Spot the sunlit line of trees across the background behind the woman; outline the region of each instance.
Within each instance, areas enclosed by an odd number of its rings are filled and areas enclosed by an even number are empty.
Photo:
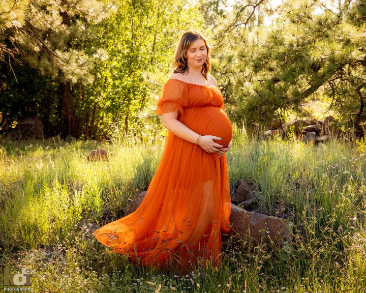
[[[212,45],[233,122],[306,115],[324,100],[359,136],[365,121],[366,1],[42,1],[0,6],[0,131],[37,115],[46,137],[149,136],[186,30]],[[272,19],[271,23],[265,20]]]

